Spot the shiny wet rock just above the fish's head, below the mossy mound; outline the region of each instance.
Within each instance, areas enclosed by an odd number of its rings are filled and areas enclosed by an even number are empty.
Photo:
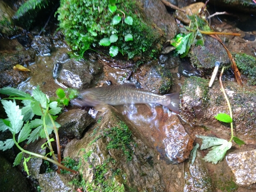
[[[70,59],[63,63],[62,70],[57,78],[65,86],[75,89],[86,89],[102,71],[98,61]]]

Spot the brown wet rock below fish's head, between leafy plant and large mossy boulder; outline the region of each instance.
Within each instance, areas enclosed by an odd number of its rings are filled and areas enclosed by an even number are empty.
[[[59,127],[59,136],[80,139],[82,133],[93,122],[93,118],[87,111],[80,109],[69,110],[61,113],[57,118],[57,122],[61,125]]]

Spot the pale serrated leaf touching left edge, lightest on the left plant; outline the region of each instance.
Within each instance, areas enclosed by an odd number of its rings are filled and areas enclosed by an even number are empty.
[[[16,134],[22,129],[23,125],[23,115],[22,110],[19,109],[19,106],[16,105],[15,100],[7,101],[7,100],[1,100],[5,112],[9,118],[9,121],[11,122],[11,126],[9,127],[9,130],[12,134]]]

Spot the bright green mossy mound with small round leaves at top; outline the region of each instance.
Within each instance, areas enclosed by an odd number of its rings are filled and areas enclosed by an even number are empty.
[[[153,56],[160,34],[142,21],[140,11],[136,1],[61,0],[57,13],[59,28],[79,57],[100,46],[111,46],[111,56]]]

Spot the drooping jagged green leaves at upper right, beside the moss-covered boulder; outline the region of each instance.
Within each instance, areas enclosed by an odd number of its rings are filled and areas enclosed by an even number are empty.
[[[191,23],[189,27],[185,28],[192,32],[189,32],[188,34],[180,33],[171,41],[171,45],[176,47],[176,52],[181,55],[181,58],[187,56],[191,45],[204,45],[203,36],[200,30],[210,31],[206,20],[200,18],[198,15],[191,15],[188,17],[191,19]]]

